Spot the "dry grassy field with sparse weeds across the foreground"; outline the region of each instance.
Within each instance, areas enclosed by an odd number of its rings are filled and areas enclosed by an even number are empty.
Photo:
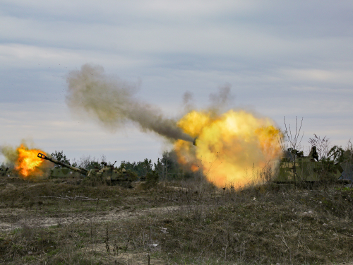
[[[343,264],[353,190],[0,179],[1,264]]]

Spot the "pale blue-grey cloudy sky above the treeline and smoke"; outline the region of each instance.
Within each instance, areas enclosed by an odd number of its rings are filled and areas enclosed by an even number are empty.
[[[127,123],[107,131],[66,105],[68,73],[84,64],[138,84],[166,117],[201,110],[231,87],[234,109],[284,129],[303,118],[345,147],[353,131],[352,1],[44,1],[0,3],[0,146],[25,140],[73,160],[156,161],[172,148]],[[306,149],[305,149],[306,150]],[[0,155],[0,162],[4,156]]]

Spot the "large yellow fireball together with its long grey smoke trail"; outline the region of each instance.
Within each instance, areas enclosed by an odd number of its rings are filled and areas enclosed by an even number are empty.
[[[201,170],[217,187],[256,184],[251,171],[261,170],[280,154],[280,131],[271,119],[244,110],[220,112],[229,88],[210,96],[213,105],[208,110],[189,110],[178,121],[134,98],[137,86],[106,76],[101,66],[85,64],[80,71],[71,71],[67,82],[66,102],[73,112],[88,114],[109,130],[131,121],[143,131],[164,136],[174,143],[179,163],[194,172]]]

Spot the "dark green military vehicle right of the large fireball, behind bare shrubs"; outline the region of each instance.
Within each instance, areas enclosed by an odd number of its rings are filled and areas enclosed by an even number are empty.
[[[280,160],[277,177],[273,182],[335,182],[342,175],[343,169],[333,161],[318,161],[316,147],[313,146],[308,156],[289,148]]]

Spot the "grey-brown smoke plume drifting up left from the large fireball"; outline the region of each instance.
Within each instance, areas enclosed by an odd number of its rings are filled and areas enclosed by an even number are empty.
[[[142,131],[154,131],[167,139],[193,141],[165,118],[160,109],[133,97],[137,86],[109,78],[102,66],[85,64],[80,71],[71,71],[67,78],[66,103],[74,112],[85,112],[102,126],[114,130],[130,120]]]

